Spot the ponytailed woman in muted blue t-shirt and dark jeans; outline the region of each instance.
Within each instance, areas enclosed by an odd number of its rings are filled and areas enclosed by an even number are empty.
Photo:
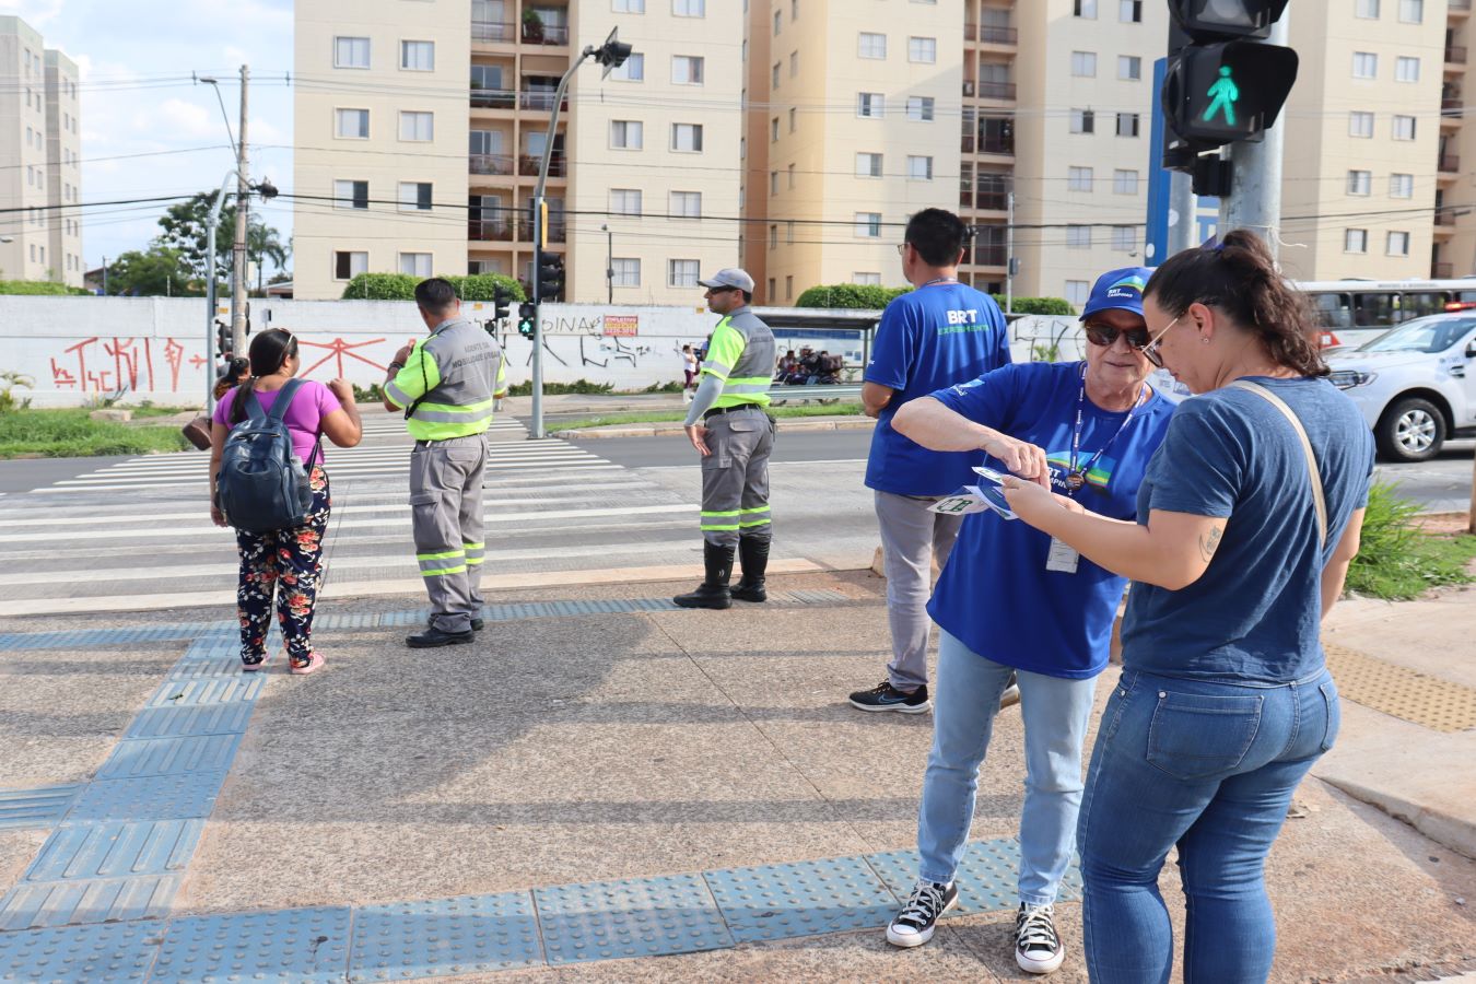
[[[1148,465],[1137,522],[1005,482],[1021,519],[1134,580],[1077,831],[1095,984],[1169,980],[1157,885],[1175,845],[1184,980],[1271,972],[1263,865],[1337,735],[1318,626],[1358,553],[1374,454],[1305,310],[1249,232],[1172,257],[1144,289],[1144,353],[1201,395]]]

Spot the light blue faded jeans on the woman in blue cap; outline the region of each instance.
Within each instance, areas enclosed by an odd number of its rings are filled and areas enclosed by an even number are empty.
[[[1055,901],[1072,862],[1082,803],[1082,742],[1097,679],[1061,680],[984,659],[942,633],[933,693],[933,751],[918,810],[918,876],[951,882],[968,844],[979,767],[999,696],[1015,673],[1024,717],[1024,810],[1020,814],[1020,901]]]

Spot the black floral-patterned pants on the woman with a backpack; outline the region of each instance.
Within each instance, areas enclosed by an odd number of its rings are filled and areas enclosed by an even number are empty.
[[[288,659],[292,665],[306,665],[313,655],[313,608],[332,499],[328,475],[316,465],[310,484],[313,507],[301,527],[276,533],[236,530],[241,549],[236,614],[241,617],[241,661],[246,665],[266,659],[273,595]]]

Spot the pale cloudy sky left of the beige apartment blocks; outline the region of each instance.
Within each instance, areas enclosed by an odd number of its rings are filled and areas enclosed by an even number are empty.
[[[190,75],[220,80],[235,133],[242,65],[251,66],[251,180],[291,190],[292,0],[0,0],[0,15],[19,16],[78,65],[84,204],[218,189],[235,153],[214,89]],[[84,209],[87,268],[146,248],[168,205]],[[292,207],[277,199],[264,209],[285,242]]]

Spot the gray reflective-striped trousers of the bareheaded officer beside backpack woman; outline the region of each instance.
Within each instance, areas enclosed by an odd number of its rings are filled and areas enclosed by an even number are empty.
[[[486,434],[416,443],[410,454],[415,556],[431,596],[431,626],[441,631],[468,631],[481,611],[486,471]]]

